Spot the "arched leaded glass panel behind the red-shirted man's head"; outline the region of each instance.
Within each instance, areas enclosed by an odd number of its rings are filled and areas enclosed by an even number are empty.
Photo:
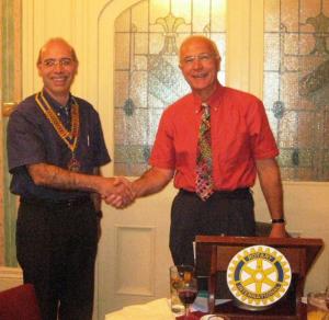
[[[191,34],[215,41],[225,83],[226,0],[144,0],[115,21],[114,173],[139,175],[164,107],[190,88],[178,49]]]

